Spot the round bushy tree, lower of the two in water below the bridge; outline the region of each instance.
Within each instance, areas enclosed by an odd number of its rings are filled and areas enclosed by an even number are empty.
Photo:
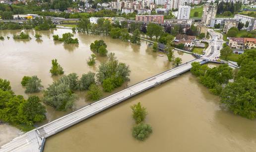
[[[149,124],[139,123],[132,128],[132,136],[140,141],[146,139],[151,133],[152,128]]]

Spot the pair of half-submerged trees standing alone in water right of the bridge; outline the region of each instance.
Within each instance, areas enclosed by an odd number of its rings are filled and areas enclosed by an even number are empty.
[[[151,126],[143,122],[147,115],[146,108],[141,106],[140,102],[131,105],[130,108],[132,110],[132,117],[136,123],[132,128],[132,136],[137,140],[143,141],[152,133]]]

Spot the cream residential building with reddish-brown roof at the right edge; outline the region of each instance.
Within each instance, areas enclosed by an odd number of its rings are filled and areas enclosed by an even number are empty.
[[[256,48],[256,38],[229,38],[229,44],[233,49],[253,49]]]

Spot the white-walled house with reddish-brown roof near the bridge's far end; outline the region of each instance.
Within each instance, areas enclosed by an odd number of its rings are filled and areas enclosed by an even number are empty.
[[[195,43],[195,36],[178,34],[174,40],[175,45],[184,44],[185,47],[193,47]]]

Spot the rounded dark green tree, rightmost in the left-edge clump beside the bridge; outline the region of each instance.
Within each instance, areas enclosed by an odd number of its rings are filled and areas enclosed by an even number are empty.
[[[21,123],[33,125],[35,122],[42,122],[46,119],[45,106],[40,103],[37,96],[30,96],[22,102],[18,110],[18,119]]]

